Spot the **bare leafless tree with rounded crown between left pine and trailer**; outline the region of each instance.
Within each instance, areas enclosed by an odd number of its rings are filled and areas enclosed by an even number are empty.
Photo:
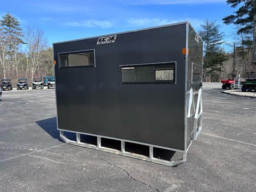
[[[27,74],[30,70],[31,81],[33,81],[36,70],[43,60],[43,50],[47,47],[47,39],[44,37],[44,31],[39,28],[28,26],[24,33],[24,39],[27,43]]]

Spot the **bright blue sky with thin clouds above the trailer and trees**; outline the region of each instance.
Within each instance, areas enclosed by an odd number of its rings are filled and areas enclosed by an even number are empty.
[[[216,20],[226,35],[234,34],[233,26],[222,22],[235,11],[225,0],[1,0],[0,4],[0,16],[9,11],[21,27],[42,28],[49,45],[181,21],[190,21],[199,30],[205,19]]]

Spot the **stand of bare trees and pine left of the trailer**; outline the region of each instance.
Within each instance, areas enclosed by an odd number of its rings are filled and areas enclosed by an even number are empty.
[[[0,20],[0,78],[53,76],[53,55],[44,31],[20,27],[20,22],[7,12]]]

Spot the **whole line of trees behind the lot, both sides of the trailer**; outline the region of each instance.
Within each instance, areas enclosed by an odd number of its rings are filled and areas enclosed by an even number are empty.
[[[199,30],[204,41],[203,81],[219,82],[228,73],[244,74],[256,71],[256,1],[227,0],[238,7],[234,14],[223,18],[226,25],[236,26],[235,34],[225,35],[215,21],[205,20]],[[223,49],[225,39],[236,36],[233,52]],[[53,76],[52,48],[44,31],[27,26],[7,12],[0,20],[0,78]]]

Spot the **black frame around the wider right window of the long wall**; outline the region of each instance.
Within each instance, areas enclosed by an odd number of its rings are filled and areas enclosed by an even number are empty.
[[[137,67],[137,66],[155,66],[155,65],[164,65],[167,63],[174,63],[174,68],[173,68],[173,81],[155,81],[155,77],[154,77],[154,81],[153,82],[122,82],[122,67]],[[129,69],[127,69],[129,70]],[[131,69],[132,70],[132,69]],[[154,69],[154,73],[155,70],[164,70],[164,69]],[[125,85],[125,84],[170,84],[170,85],[176,85],[176,71],[177,71],[177,61],[164,61],[164,62],[154,62],[154,63],[140,63],[140,64],[132,64],[132,65],[119,65],[119,81],[121,85]]]

